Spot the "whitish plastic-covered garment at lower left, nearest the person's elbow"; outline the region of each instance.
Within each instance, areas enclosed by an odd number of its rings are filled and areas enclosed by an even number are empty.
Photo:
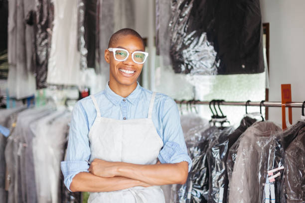
[[[33,158],[37,201],[58,203],[60,161],[71,113],[57,110],[30,124],[33,137]],[[45,176],[44,171],[48,174]]]

